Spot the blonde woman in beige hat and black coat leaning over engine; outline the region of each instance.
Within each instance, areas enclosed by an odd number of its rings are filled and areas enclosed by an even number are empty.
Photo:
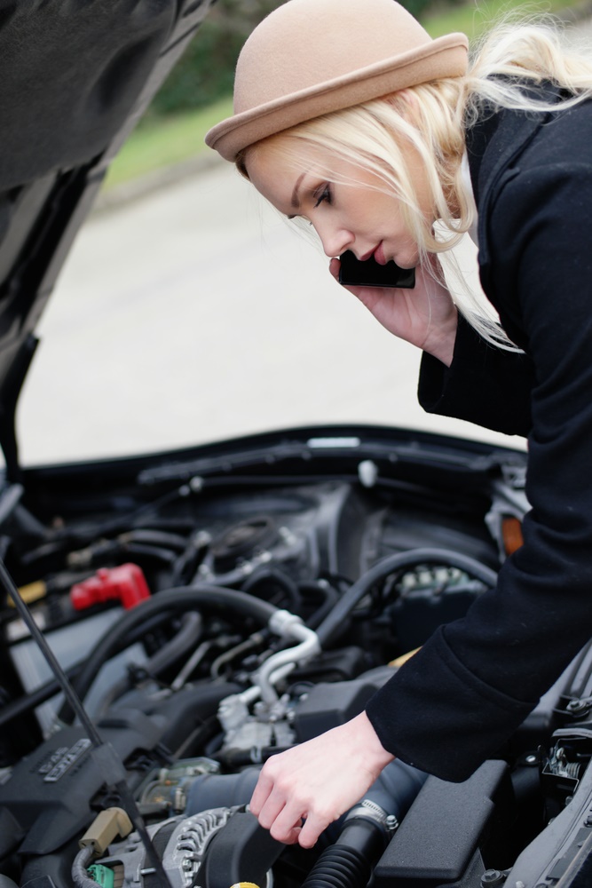
[[[532,511],[496,589],[264,766],[251,810],[280,841],[312,846],[393,757],[465,780],[592,635],[590,97],[592,63],[541,28],[468,67],[463,35],[430,40],[394,0],[289,0],[241,53],[209,145],[314,227],[335,276],[344,250],[415,267],[414,289],[348,289],[422,348],[422,406],[529,438]],[[500,323],[442,279],[467,231]]]

